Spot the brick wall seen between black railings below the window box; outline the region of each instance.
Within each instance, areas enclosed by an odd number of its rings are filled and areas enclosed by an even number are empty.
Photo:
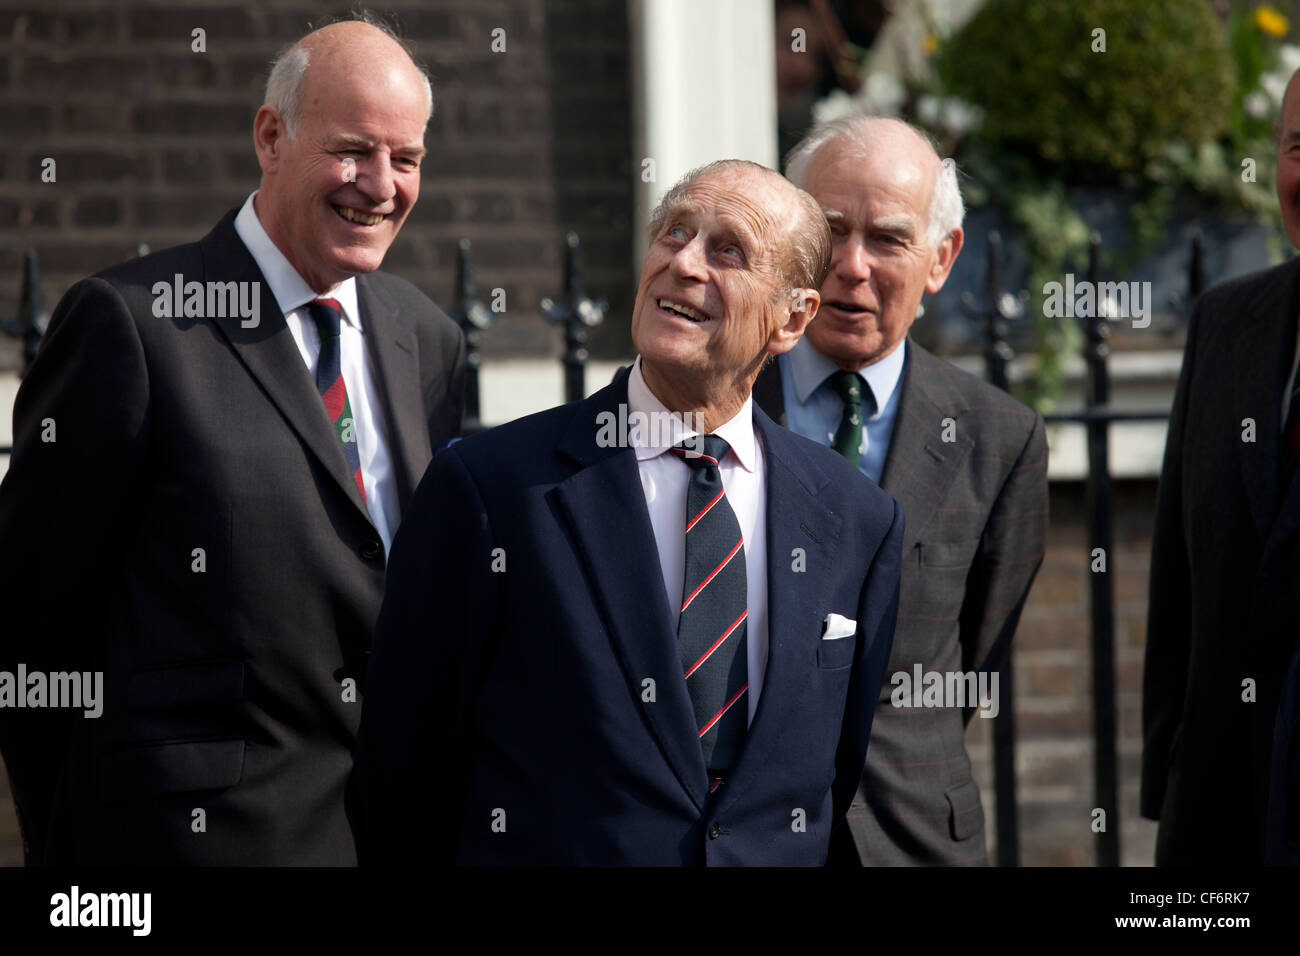
[[[1020,864],[1091,866],[1092,652],[1083,485],[1053,483],[1043,567],[1034,580],[1014,643],[1015,777]],[[1156,825],[1138,816],[1141,760],[1141,666],[1147,644],[1147,580],[1156,481],[1121,481],[1114,496],[1114,549],[1108,559],[1115,601],[1115,713],[1119,728],[1122,864],[1149,866]],[[966,735],[993,826],[992,721],[975,717]],[[991,830],[992,832],[992,830]],[[993,856],[996,840],[989,842]]]

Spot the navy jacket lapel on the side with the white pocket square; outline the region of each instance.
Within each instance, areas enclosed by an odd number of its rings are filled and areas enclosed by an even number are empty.
[[[763,441],[767,472],[767,671],[745,745],[722,788],[720,809],[771,773],[776,741],[801,723],[809,662],[816,656],[824,611],[846,610],[827,607],[842,522],[818,499],[826,473],[760,408],[754,410],[754,428]],[[797,588],[784,578],[796,548],[807,561]]]

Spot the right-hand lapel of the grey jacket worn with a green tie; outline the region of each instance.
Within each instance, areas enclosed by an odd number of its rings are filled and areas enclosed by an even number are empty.
[[[963,432],[961,416],[968,405],[948,386],[936,359],[907,339],[898,418],[880,486],[902,506],[904,551],[913,546],[935,507],[942,501],[975,442]],[[953,441],[944,441],[944,419],[953,419]]]

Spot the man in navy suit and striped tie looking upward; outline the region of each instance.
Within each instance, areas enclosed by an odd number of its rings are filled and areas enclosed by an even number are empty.
[[[816,312],[829,234],[736,160],[650,233],[632,369],[451,446],[416,492],[358,741],[363,864],[827,860],[902,515],[750,388]]]

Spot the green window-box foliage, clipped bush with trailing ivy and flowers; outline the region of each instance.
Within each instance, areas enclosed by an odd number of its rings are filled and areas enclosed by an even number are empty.
[[[1024,243],[1039,355],[1024,401],[1056,405],[1082,339],[1075,323],[1043,313],[1044,284],[1087,263],[1071,190],[1132,199],[1124,247],[1105,250],[1108,276],[1154,251],[1182,198],[1273,226],[1280,258],[1271,116],[1300,56],[1283,48],[1291,60],[1279,65],[1286,31],[1275,9],[1243,4],[1225,25],[1204,0],[988,0],[941,43],[937,82],[913,99],[956,98],[983,114],[972,130],[930,125],[968,177],[967,204],[1000,206]]]

